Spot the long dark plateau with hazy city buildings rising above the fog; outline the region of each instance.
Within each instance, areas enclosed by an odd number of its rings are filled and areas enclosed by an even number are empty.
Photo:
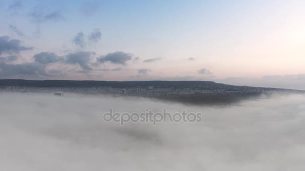
[[[236,86],[213,81],[94,81],[0,79],[0,91],[141,96],[192,104],[227,104],[261,94],[304,93],[283,88]]]

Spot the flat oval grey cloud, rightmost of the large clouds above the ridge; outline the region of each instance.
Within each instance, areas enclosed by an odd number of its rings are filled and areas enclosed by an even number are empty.
[[[105,63],[110,62],[114,64],[126,65],[126,62],[132,59],[131,53],[125,53],[123,51],[115,51],[97,58],[98,62]]]

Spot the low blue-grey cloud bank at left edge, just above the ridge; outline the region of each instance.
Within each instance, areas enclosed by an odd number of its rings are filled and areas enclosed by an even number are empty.
[[[38,62],[21,63],[21,64],[8,64],[5,62],[0,63],[0,76],[50,76],[46,72],[46,65]]]

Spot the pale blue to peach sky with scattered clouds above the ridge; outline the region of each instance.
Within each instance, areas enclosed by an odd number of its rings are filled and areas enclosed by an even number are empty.
[[[0,0],[0,78],[305,89],[303,0]]]

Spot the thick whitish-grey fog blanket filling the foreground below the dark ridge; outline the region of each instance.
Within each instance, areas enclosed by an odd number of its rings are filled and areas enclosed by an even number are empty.
[[[229,106],[0,93],[1,170],[304,170],[305,96]],[[201,112],[202,122],[103,121],[103,113]]]

